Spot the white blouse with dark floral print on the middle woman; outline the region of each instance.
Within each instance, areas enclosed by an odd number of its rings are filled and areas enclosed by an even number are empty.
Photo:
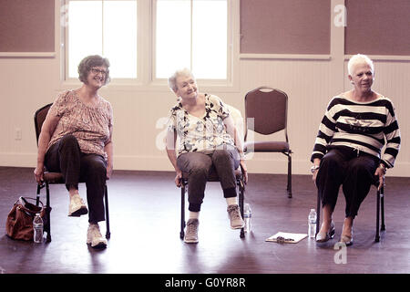
[[[205,113],[198,118],[182,108],[179,101],[169,111],[168,130],[177,131],[177,156],[190,151],[213,151],[218,146],[234,146],[223,124],[230,115],[227,106],[215,95],[205,94]]]

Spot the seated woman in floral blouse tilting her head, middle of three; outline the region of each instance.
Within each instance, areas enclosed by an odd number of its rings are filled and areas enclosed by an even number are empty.
[[[218,172],[226,199],[231,228],[242,228],[237,202],[235,170],[241,165],[245,183],[247,170],[239,139],[230,111],[214,95],[201,93],[189,69],[176,71],[169,78],[169,88],[178,98],[169,112],[167,154],[180,186],[182,172],[188,174],[190,218],[184,241],[198,243],[200,205],[212,166]]]

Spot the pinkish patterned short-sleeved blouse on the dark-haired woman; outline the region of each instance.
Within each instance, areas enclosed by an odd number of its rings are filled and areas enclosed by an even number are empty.
[[[60,120],[47,150],[63,136],[71,134],[77,138],[83,153],[96,153],[107,159],[104,146],[109,142],[113,114],[111,104],[106,99],[99,98],[97,105],[88,106],[74,90],[67,90],[58,95],[48,114]]]

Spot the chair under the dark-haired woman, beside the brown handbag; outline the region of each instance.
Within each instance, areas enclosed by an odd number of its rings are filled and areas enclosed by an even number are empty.
[[[40,132],[41,132],[41,127],[43,126],[44,120],[46,120],[46,115],[51,105],[52,103],[49,103],[46,106],[42,107],[41,109],[36,110],[34,120],[35,120],[35,128],[36,128],[37,145],[38,145],[38,137],[40,136]],[[80,183],[85,183],[85,182],[80,182]],[[50,188],[49,188],[50,184],[65,184],[63,174],[60,172],[45,171],[44,172],[44,182],[37,184],[37,196],[36,196],[37,205],[40,201],[41,189],[46,187],[46,220],[45,220],[44,230],[47,233],[47,236],[46,236],[47,243],[51,242],[51,227],[50,227],[51,207],[50,207]],[[106,184],[105,192],[104,192],[104,200],[105,200],[105,207],[106,207],[106,224],[107,224],[106,238],[109,238],[111,233],[109,231],[107,184]]]

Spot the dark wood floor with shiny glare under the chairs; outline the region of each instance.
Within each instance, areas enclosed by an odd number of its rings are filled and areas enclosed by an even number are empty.
[[[375,192],[364,201],[354,224],[354,245],[346,263],[334,250],[343,224],[341,193],[334,221],[336,236],[317,245],[265,242],[278,231],[306,233],[316,191],[309,175],[293,175],[293,198],[285,175],[251,174],[246,201],[252,231],[241,239],[231,230],[219,183],[209,183],[200,214],[200,243],[179,239],[179,189],[173,172],[116,171],[108,182],[111,238],[105,250],[86,245],[87,215],[67,217],[64,186],[51,186],[52,235],[49,244],[14,241],[5,235],[5,218],[20,196],[36,196],[33,169],[0,167],[0,271],[7,274],[397,274],[410,273],[410,178],[387,177],[386,231],[374,243]],[[80,193],[85,194],[81,185]],[[85,197],[85,196],[84,196]],[[45,198],[43,197],[44,201]],[[105,225],[101,224],[104,233]],[[339,254],[338,254],[339,252]]]

